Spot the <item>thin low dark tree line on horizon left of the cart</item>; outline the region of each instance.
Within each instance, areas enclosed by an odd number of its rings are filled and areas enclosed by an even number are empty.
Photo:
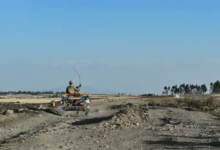
[[[31,95],[39,95],[39,94],[61,94],[64,92],[53,92],[53,91],[7,91],[0,92],[0,95],[8,95],[8,94],[31,94]]]

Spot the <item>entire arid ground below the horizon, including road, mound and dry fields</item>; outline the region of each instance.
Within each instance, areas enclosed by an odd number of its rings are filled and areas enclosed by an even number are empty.
[[[89,115],[78,117],[56,113],[60,98],[0,99],[0,149],[220,149],[218,97],[90,97]]]

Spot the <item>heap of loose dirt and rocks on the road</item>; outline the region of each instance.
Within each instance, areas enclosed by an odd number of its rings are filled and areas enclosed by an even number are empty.
[[[138,127],[144,125],[148,120],[148,106],[135,105],[128,103],[118,105],[119,112],[116,113],[110,120],[101,122],[98,126],[105,129],[118,129],[121,127]]]

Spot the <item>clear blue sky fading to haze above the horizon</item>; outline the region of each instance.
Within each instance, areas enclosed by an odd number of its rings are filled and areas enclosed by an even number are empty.
[[[219,0],[0,1],[0,90],[161,94],[220,79]],[[83,89],[84,87],[84,89]]]

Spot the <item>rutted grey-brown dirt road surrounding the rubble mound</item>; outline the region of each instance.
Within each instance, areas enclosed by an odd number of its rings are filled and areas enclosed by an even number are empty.
[[[220,149],[220,120],[198,111],[149,107],[143,127],[105,131],[97,126],[118,111],[110,106],[128,101],[93,103],[90,115],[64,116],[40,111],[0,125],[0,149],[6,150],[148,150]],[[142,103],[135,101],[135,103]]]

